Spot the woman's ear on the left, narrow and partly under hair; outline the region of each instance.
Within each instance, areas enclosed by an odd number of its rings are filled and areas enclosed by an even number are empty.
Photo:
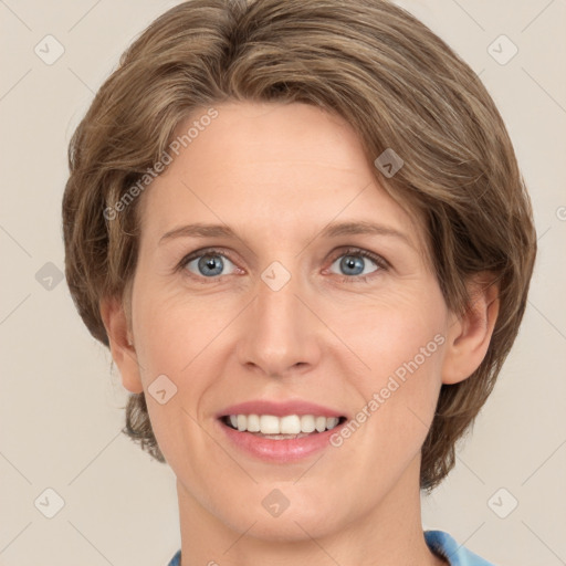
[[[133,394],[144,391],[139,365],[124,304],[115,297],[101,301],[101,316],[108,335],[111,354],[122,376],[122,385]]]

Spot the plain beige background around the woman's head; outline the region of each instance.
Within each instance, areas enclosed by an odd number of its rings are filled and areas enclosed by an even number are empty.
[[[180,546],[175,476],[120,434],[126,394],[60,281],[72,132],[123,50],[176,3],[0,0],[3,566],[165,566]],[[566,2],[398,3],[480,73],[515,144],[539,237],[521,334],[457,469],[423,500],[424,527],[450,532],[499,565],[559,566],[566,564]]]

